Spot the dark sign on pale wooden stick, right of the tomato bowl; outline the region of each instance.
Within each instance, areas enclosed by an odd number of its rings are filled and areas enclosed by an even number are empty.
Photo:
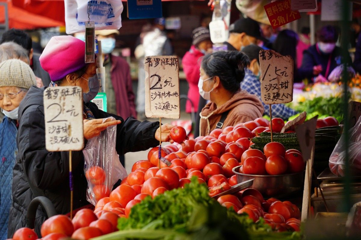
[[[296,127],[303,160],[306,162],[305,183],[303,189],[301,221],[307,219],[310,207],[312,166],[315,146],[317,116]]]

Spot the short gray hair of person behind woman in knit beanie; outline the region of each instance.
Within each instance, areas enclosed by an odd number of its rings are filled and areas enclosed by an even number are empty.
[[[20,59],[28,65],[30,64],[28,51],[14,42],[0,44],[0,63],[8,59]]]

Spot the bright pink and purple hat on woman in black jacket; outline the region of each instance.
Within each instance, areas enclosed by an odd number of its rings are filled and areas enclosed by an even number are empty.
[[[55,36],[45,46],[40,56],[40,65],[53,82],[83,68],[85,43],[73,36]]]

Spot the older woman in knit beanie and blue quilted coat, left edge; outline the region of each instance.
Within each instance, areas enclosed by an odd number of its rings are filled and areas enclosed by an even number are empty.
[[[0,63],[0,108],[5,115],[0,124],[0,239],[7,239],[11,186],[18,152],[18,107],[27,90],[35,84],[29,65],[19,59]]]

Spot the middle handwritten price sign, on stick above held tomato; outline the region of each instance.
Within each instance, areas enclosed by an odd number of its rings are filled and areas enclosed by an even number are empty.
[[[144,70],[145,115],[178,119],[180,116],[178,57],[145,57]]]

